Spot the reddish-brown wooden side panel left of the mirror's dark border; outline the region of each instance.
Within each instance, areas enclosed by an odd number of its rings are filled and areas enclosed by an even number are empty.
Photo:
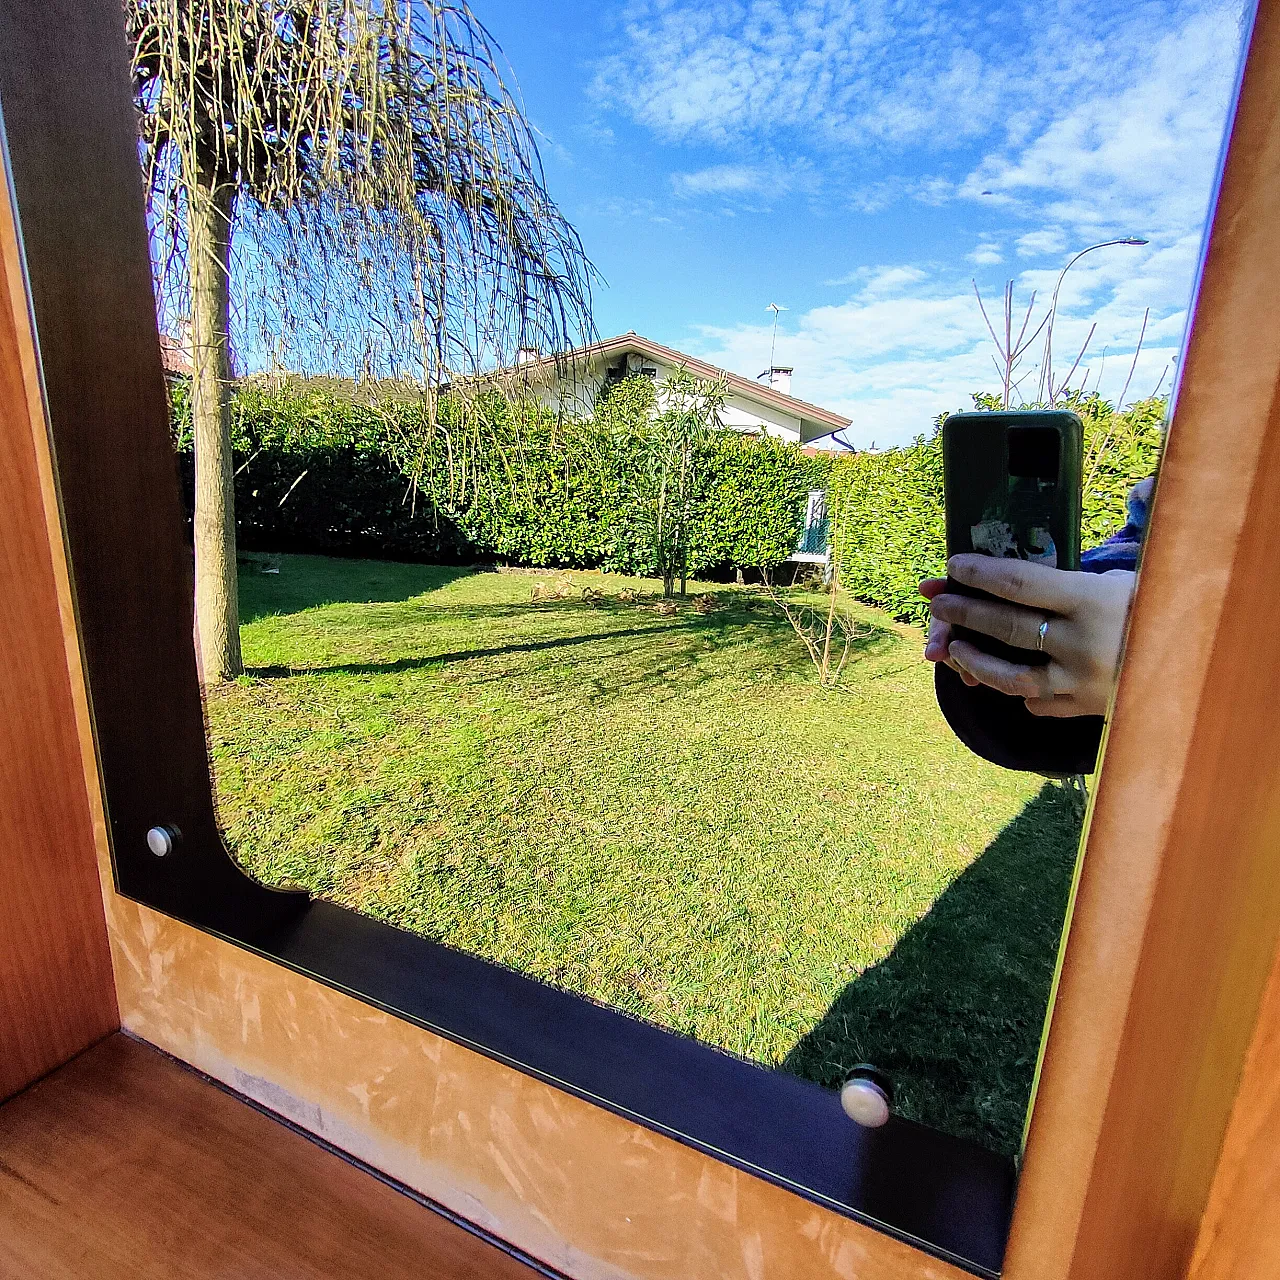
[[[118,1025],[49,544],[58,527],[46,524],[44,431],[0,183],[0,1098]]]

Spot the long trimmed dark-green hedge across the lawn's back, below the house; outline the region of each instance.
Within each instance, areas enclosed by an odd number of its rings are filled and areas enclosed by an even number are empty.
[[[337,383],[244,383],[232,417],[241,544],[652,573],[636,495],[645,481],[653,394],[649,379],[627,379],[585,422],[499,396],[467,410],[445,402],[440,426],[431,430],[411,398],[362,399]],[[189,503],[186,384],[174,384],[173,398]],[[786,559],[805,495],[824,484],[827,470],[827,460],[795,445],[717,433],[699,460],[690,571]]]

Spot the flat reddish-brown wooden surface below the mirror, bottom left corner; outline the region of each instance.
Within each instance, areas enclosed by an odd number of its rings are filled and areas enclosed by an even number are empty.
[[[3,1280],[539,1274],[125,1036],[0,1106]]]

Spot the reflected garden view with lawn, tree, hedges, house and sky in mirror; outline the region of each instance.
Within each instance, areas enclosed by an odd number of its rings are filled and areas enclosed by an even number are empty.
[[[1075,413],[1135,570],[1236,13],[127,9],[236,856],[1015,1155],[1087,783],[940,714],[940,429]]]

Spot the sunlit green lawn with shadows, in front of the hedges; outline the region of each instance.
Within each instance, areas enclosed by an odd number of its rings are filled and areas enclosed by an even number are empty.
[[[877,1062],[906,1115],[1016,1149],[1070,799],[969,755],[872,609],[824,692],[749,591],[667,617],[566,577],[246,564],[248,675],[209,704],[238,856],[826,1084]]]

